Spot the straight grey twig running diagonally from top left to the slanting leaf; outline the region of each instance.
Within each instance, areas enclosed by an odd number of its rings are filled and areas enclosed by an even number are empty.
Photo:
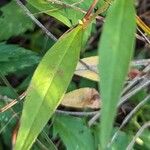
[[[48,37],[50,37],[52,40],[54,41],[57,41],[57,38],[50,32],[48,31],[47,28],[45,28],[45,26],[40,22],[38,21],[34,15],[29,11],[29,9],[27,9],[27,7],[25,7],[23,5],[23,3],[20,1],[20,0],[15,0],[17,2],[17,4],[24,10],[24,12],[26,13],[26,15],[28,17],[30,17],[30,19],[37,24],[37,26],[39,26],[46,34]]]

